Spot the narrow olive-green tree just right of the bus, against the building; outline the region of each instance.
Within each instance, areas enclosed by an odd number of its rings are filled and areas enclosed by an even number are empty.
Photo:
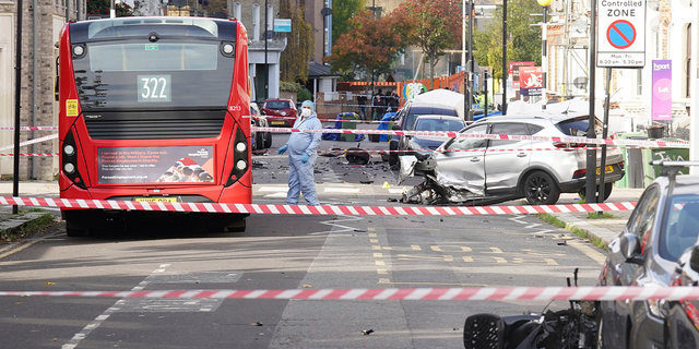
[[[281,80],[286,82],[308,81],[308,62],[313,52],[313,32],[304,20],[304,8],[292,7],[289,0],[280,1],[280,17],[292,20],[292,33],[280,59]]]

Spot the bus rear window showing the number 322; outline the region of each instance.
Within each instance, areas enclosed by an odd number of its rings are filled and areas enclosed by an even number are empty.
[[[234,57],[220,41],[88,43],[73,58],[80,101],[91,109],[217,107],[228,104]]]

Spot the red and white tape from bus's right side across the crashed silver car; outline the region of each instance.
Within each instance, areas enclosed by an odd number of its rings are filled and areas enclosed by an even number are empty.
[[[599,144],[599,145],[632,145],[639,147],[673,147],[688,148],[689,142],[665,142],[665,141],[642,141],[642,140],[603,140],[603,139],[585,139],[585,137],[554,137],[541,135],[507,135],[507,134],[485,134],[485,133],[459,133],[452,131],[389,131],[389,130],[353,130],[353,129],[321,129],[321,130],[300,130],[289,128],[258,128],[251,127],[252,131],[260,132],[309,132],[309,133],[366,133],[366,134],[392,134],[392,135],[414,135],[414,136],[434,136],[449,139],[478,139],[478,140],[497,140],[497,141],[540,141],[555,143],[576,143],[576,144]]]

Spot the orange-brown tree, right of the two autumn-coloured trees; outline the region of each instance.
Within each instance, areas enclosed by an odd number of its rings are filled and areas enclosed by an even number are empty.
[[[416,44],[429,63],[429,79],[435,79],[435,65],[461,41],[461,4],[457,0],[408,0],[408,12],[415,17]],[[431,88],[431,86],[430,86]]]

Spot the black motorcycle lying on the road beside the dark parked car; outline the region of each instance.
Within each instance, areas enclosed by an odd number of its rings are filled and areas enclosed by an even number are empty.
[[[578,268],[574,285],[578,286]],[[596,333],[595,302],[570,301],[568,309],[556,312],[471,315],[464,325],[463,345],[466,349],[596,348]]]

